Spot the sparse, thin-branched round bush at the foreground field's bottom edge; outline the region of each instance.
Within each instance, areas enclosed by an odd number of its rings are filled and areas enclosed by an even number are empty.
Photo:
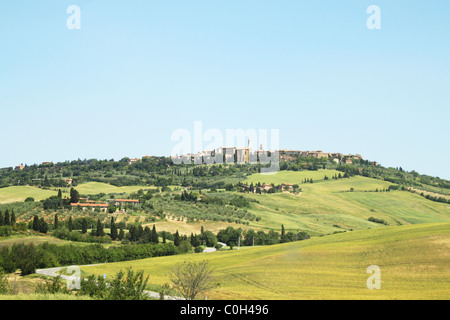
[[[170,271],[169,278],[173,288],[186,300],[194,300],[199,294],[218,286],[208,261],[178,264]]]

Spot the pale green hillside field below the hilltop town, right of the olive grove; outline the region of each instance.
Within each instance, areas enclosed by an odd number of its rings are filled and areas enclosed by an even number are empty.
[[[301,179],[305,174],[308,172],[291,172],[291,182]],[[287,180],[276,176],[271,181],[279,183]],[[251,178],[258,180],[254,176]],[[251,222],[255,228],[279,230],[283,224],[288,230],[323,235],[343,230],[385,227],[368,221],[369,217],[383,219],[389,226],[450,222],[450,209],[446,204],[429,201],[410,192],[376,192],[377,189],[389,188],[389,185],[389,182],[355,176],[300,184],[302,192],[299,194],[244,195],[258,201],[250,209],[261,217],[261,221]],[[350,188],[354,191],[350,192]]]

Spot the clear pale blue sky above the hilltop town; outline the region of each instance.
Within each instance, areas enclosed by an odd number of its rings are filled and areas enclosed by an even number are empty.
[[[450,179],[449,14],[447,0],[2,0],[0,167],[169,156],[200,121]]]

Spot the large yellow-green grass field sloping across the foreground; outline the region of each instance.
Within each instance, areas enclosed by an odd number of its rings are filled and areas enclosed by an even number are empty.
[[[208,299],[449,299],[450,223],[353,231],[268,247],[83,267],[113,275],[132,266],[154,286],[185,260],[208,260],[221,286]],[[381,270],[369,290],[367,268]]]

